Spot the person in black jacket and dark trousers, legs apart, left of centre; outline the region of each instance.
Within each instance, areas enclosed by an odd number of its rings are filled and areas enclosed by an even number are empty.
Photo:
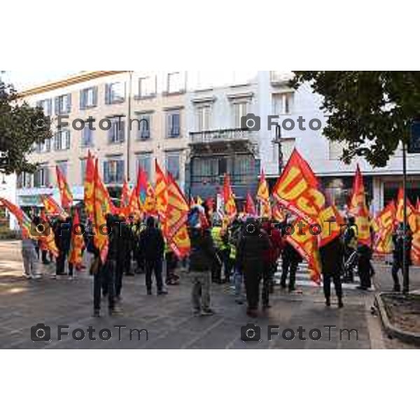
[[[165,241],[162,231],[156,227],[155,219],[150,216],[146,222],[146,230],[140,235],[140,248],[146,262],[146,289],[147,294],[152,294],[152,272],[155,273],[158,295],[166,295],[163,288],[162,261],[165,252]]]

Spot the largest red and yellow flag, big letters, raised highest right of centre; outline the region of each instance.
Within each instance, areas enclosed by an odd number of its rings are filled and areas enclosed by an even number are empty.
[[[295,149],[272,191],[274,198],[307,223],[316,223],[325,206],[314,172]]]

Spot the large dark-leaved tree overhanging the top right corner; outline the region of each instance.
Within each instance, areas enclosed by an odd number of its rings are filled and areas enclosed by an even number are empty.
[[[295,71],[293,87],[309,83],[330,116],[325,137],[344,146],[342,160],[363,156],[384,167],[420,115],[420,71]]]

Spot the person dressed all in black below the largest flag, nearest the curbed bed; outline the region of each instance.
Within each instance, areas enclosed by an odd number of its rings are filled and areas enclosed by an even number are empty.
[[[321,265],[323,274],[323,290],[325,295],[325,304],[330,306],[331,280],[334,282],[335,293],[338,298],[338,307],[342,308],[342,260],[344,256],[344,245],[340,237],[332,239],[328,244],[319,248],[321,254]]]

